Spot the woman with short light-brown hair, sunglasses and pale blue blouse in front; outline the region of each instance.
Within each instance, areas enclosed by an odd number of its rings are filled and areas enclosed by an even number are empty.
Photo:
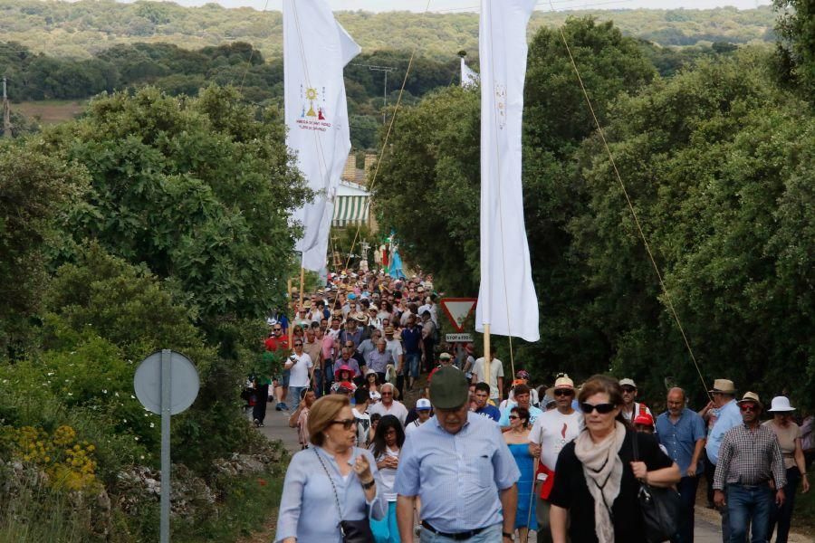
[[[289,463],[275,541],[340,543],[340,521],[367,529],[372,538],[369,521],[383,519],[388,506],[379,493],[373,456],[354,446],[357,433],[348,398],[327,395],[314,402],[308,427],[312,447]]]

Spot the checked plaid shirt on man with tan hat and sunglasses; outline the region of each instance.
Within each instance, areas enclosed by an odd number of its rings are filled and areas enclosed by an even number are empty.
[[[726,483],[758,485],[771,478],[777,489],[787,484],[781,447],[770,428],[759,425],[751,430],[739,424],[724,434],[714,475],[715,490],[724,490]]]

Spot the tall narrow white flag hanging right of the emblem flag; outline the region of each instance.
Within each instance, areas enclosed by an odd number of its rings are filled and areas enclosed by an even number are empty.
[[[526,24],[536,0],[482,0],[481,288],[475,329],[540,338],[523,223],[521,118]]]

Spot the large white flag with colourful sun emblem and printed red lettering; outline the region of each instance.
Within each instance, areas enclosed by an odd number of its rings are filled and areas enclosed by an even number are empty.
[[[283,81],[286,145],[317,194],[292,213],[304,233],[296,244],[302,267],[326,264],[334,195],[350,151],[342,68],[360,54],[326,0],[283,1]]]

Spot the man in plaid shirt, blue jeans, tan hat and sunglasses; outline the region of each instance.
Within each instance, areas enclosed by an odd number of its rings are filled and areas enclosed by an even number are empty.
[[[727,506],[732,543],[746,543],[748,525],[753,527],[751,541],[763,543],[770,536],[773,494],[776,505],[784,503],[787,473],[775,433],[760,423],[759,396],[747,392],[738,405],[743,424],[725,433],[719,447],[714,502]]]

